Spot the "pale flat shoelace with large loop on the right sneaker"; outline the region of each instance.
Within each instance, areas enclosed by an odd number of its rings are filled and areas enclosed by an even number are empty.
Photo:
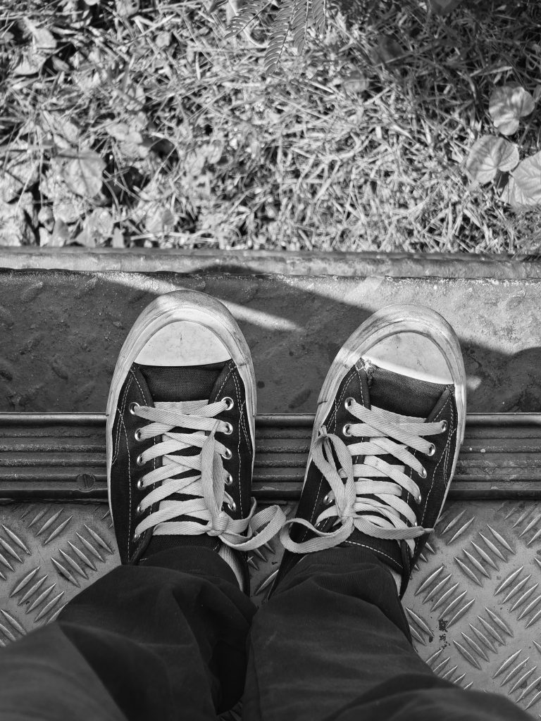
[[[379,456],[395,456],[426,478],[421,461],[406,446],[428,456],[433,455],[434,444],[421,438],[421,435],[444,433],[447,422],[424,423],[421,418],[401,416],[377,407],[368,409],[353,398],[346,399],[346,408],[361,423],[346,424],[345,435],[347,431],[347,435],[370,440],[346,446],[338,435],[327,433],[325,426],[322,426],[312,446],[312,460],[330,485],[330,492],[324,499],[327,508],[317,517],[315,526],[304,518],[286,521],[280,540],[289,551],[309,553],[338,546],[351,536],[354,528],[358,528],[374,538],[404,539],[413,554],[413,539],[434,529],[418,526],[413,509],[400,495],[405,489],[419,504],[422,500],[421,491],[413,479],[404,473],[405,466],[387,463]],[[338,468],[332,448],[338,459]],[[364,456],[364,463],[353,465],[353,456]],[[390,480],[374,480],[378,477]],[[359,516],[359,513],[363,515]],[[339,524],[338,528],[327,533],[317,528],[322,521],[333,516],[337,517],[333,527]],[[410,526],[400,516],[404,516]],[[304,543],[295,543],[289,536],[288,526],[291,523],[306,526],[317,537]]]

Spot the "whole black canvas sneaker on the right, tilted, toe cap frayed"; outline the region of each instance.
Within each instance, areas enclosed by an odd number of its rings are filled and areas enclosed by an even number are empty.
[[[465,380],[457,336],[424,306],[387,306],[348,338],[317,402],[274,589],[302,554],[360,546],[401,578],[402,598],[457,465]]]

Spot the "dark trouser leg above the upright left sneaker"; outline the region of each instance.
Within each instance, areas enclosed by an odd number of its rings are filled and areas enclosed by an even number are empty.
[[[119,566],[1,650],[1,718],[214,721],[242,695],[254,612],[214,551]]]

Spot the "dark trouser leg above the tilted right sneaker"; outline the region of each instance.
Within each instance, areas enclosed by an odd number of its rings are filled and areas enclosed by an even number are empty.
[[[247,721],[529,719],[436,676],[387,567],[346,548],[307,554],[255,616],[244,704]]]

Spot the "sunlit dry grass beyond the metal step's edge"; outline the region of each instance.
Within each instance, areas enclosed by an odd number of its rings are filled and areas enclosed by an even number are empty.
[[[276,6],[227,40],[210,6],[0,0],[0,242],[541,252],[541,208],[463,167],[494,132],[493,88],[541,83],[540,3],[340,0],[272,77]],[[512,138],[521,158],[540,118]],[[63,172],[82,149],[103,164],[94,197]]]

